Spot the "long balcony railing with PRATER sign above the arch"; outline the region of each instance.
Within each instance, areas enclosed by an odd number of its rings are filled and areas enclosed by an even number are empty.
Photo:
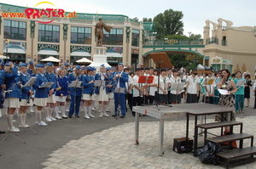
[[[203,39],[189,40],[189,39],[166,39],[166,40],[144,40],[143,46],[170,46],[170,45],[202,45]]]

